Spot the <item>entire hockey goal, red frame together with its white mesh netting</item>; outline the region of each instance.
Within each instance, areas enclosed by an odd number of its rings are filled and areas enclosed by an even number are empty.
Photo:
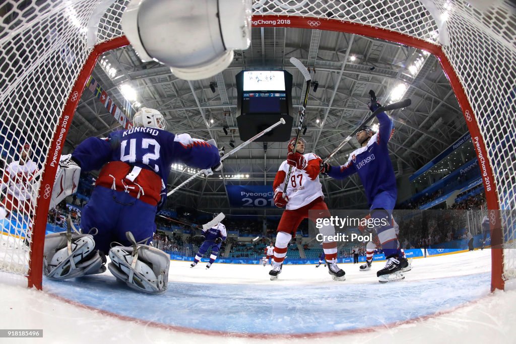
[[[41,288],[49,192],[77,102],[105,51],[128,44],[120,19],[128,1],[77,0],[0,5],[0,173],[29,144],[40,173],[31,194],[2,219],[0,270]],[[470,5],[472,3],[473,5]],[[492,286],[516,276],[516,19],[507,1],[257,0],[253,25],[351,32],[437,56],[462,108],[486,191],[493,241]],[[27,178],[26,178],[27,179]],[[2,189],[2,198],[7,189]],[[498,212],[498,209],[509,209]],[[9,222],[9,223],[7,223]],[[32,235],[30,236],[30,233]],[[24,244],[29,236],[30,249]],[[502,241],[505,248],[502,249]]]

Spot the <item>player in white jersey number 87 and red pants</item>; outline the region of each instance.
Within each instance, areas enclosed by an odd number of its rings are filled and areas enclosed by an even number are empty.
[[[286,207],[286,210],[283,211],[278,224],[272,270],[269,271],[271,280],[276,280],[281,273],[288,243],[296,236],[301,221],[309,217],[309,210],[319,210],[316,212],[318,215],[310,218],[311,221],[315,221],[316,218],[330,217],[319,182],[321,159],[313,153],[304,154],[305,144],[303,139],[296,142],[296,138],[288,142],[287,159],[281,163],[272,186],[275,205],[279,208]],[[289,166],[292,166],[292,173],[285,181]],[[287,183],[286,194],[283,193],[285,182]],[[335,235],[335,228],[326,225],[319,231],[325,237],[322,249],[326,253],[328,272],[334,280],[344,281],[345,272],[336,263],[337,243],[327,239],[329,236]]]

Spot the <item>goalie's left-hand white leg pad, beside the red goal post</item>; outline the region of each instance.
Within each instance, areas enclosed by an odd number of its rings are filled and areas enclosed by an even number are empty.
[[[53,233],[45,237],[43,271],[51,280],[68,280],[74,277],[103,273],[105,257],[93,250],[95,241],[89,234],[72,234],[71,253],[66,233]]]

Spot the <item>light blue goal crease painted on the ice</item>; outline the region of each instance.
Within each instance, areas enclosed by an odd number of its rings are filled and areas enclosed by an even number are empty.
[[[267,334],[345,331],[405,321],[481,298],[489,285],[489,273],[384,285],[170,282],[165,294],[152,296],[108,274],[44,280],[47,292],[122,316],[205,331]]]

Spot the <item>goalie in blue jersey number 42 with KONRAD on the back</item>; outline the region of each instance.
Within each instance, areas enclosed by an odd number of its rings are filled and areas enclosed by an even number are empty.
[[[166,291],[170,256],[147,243],[156,230],[156,211],[165,203],[172,163],[206,169],[209,174],[221,167],[220,156],[213,144],[166,132],[165,119],[157,110],[142,108],[134,125],[105,139],[90,137],[71,155],[61,157],[51,202],[58,203],[73,191],[80,170],[100,169],[100,173],[80,220],[87,234],[56,233],[45,238],[44,271],[49,278],[101,273],[108,253],[109,271],[117,279],[148,293]],[[120,245],[111,247],[112,242]]]

